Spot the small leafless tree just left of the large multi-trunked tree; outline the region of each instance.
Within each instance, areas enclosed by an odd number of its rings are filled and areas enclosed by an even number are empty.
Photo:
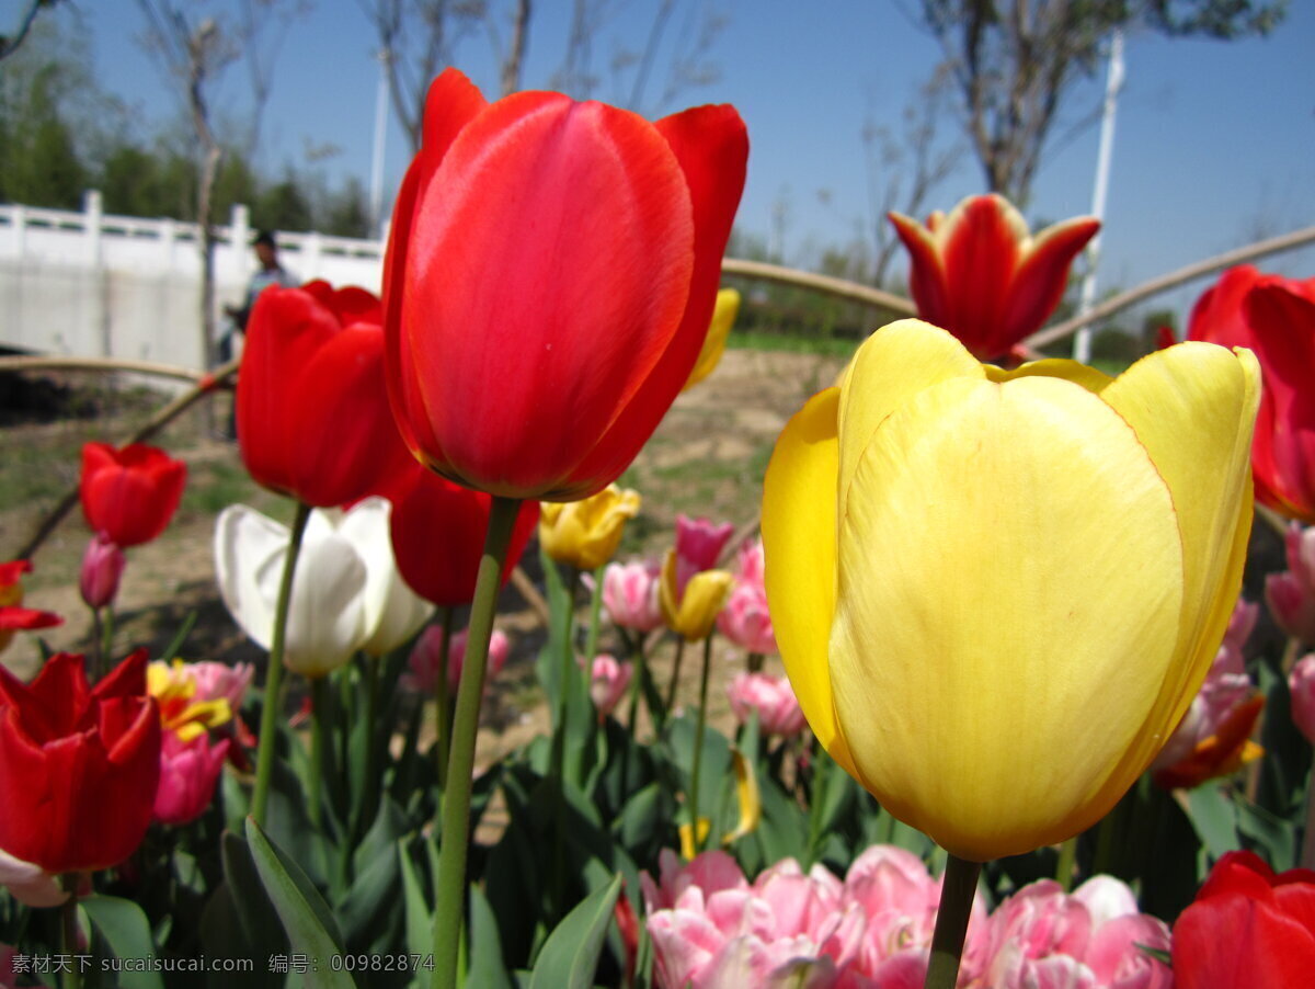
[[[871,280],[881,285],[886,268],[899,246],[886,214],[892,210],[922,216],[931,195],[963,162],[963,141],[945,142],[944,114],[948,109],[948,76],[932,75],[905,105],[898,130],[871,118],[863,128],[863,149],[868,168],[873,263]]]

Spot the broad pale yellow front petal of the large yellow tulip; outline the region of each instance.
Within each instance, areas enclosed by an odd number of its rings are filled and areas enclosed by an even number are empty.
[[[932,385],[873,434],[839,546],[836,714],[893,814],[981,860],[1114,805],[1182,606],[1169,491],[1127,423],[1061,380]]]

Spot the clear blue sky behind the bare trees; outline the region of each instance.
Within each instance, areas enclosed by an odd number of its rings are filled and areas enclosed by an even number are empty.
[[[688,0],[686,0],[688,3]],[[0,0],[9,24],[17,0]],[[614,36],[635,38],[655,0],[621,0],[617,20],[594,49],[606,62]],[[212,4],[222,8],[222,3]],[[932,39],[886,0],[723,0],[729,24],[711,59],[721,80],[688,89],[667,109],[734,103],[748,124],[750,176],[738,224],[769,235],[773,209],[785,204],[788,260],[807,263],[823,246],[852,239],[871,222],[861,130],[871,118],[894,126],[917,85],[938,60]],[[527,85],[543,85],[560,63],[567,0],[539,0],[531,26]],[[135,4],[79,4],[92,32],[96,74],[108,89],[164,120],[176,96],[135,36]],[[679,30],[673,24],[672,34]],[[306,142],[335,145],[325,168],[339,178],[370,175],[377,70],[375,39],[354,0],[318,0],[288,33],[266,117],[263,163],[304,162]],[[1103,231],[1101,287],[1130,287],[1230,247],[1315,224],[1315,4],[1295,0],[1269,38],[1236,42],[1127,39],[1127,84],[1119,103],[1112,180]],[[476,38],[459,62],[487,93],[496,89],[488,45]],[[1072,104],[1090,108],[1102,78]],[[246,80],[231,71],[221,109],[242,113]],[[598,93],[608,99],[606,87]],[[953,134],[952,121],[945,133]],[[1043,166],[1031,220],[1090,209],[1097,128]],[[385,157],[391,195],[406,160],[392,121]],[[827,201],[819,197],[826,191]],[[932,204],[951,208],[982,191],[970,157]],[[1266,270],[1315,275],[1315,250],[1261,262]],[[1203,284],[1166,296],[1190,305]]]

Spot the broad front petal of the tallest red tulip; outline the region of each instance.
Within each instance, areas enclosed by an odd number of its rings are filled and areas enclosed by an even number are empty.
[[[417,191],[409,241],[400,346],[447,470],[510,496],[552,485],[631,401],[681,325],[694,262],[689,189],[661,135],[555,93],[509,96],[460,132]]]

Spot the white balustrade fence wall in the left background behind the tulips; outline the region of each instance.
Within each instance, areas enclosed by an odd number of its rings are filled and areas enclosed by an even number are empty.
[[[201,368],[201,259],[196,224],[107,216],[99,192],[80,213],[0,205],[0,347],[116,356]],[[216,320],[239,305],[256,268],[246,206],[217,226]],[[377,292],[383,243],[277,234],[280,262],[300,280]]]

